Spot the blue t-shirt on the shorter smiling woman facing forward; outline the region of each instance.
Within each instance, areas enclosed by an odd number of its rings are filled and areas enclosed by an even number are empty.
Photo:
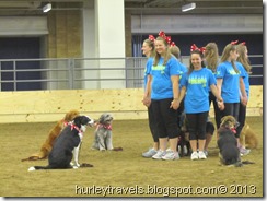
[[[181,85],[186,87],[185,113],[197,114],[209,111],[209,86],[216,85],[211,70],[202,68],[182,76]]]

